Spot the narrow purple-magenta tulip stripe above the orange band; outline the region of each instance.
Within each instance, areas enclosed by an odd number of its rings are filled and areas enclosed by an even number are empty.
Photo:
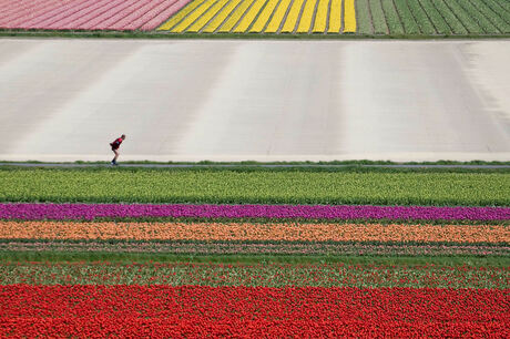
[[[510,220],[508,207],[334,205],[0,204],[0,219],[122,217]]]

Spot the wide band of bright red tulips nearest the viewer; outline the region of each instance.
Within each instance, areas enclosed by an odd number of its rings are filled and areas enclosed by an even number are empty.
[[[509,307],[508,289],[13,285],[0,336],[508,338]]]

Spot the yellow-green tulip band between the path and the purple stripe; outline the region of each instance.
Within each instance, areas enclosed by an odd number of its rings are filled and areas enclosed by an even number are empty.
[[[435,171],[0,171],[1,202],[510,206],[510,173]]]

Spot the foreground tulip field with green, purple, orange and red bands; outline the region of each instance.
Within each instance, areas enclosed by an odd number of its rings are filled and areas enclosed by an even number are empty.
[[[1,337],[509,337],[508,170],[0,168]]]

